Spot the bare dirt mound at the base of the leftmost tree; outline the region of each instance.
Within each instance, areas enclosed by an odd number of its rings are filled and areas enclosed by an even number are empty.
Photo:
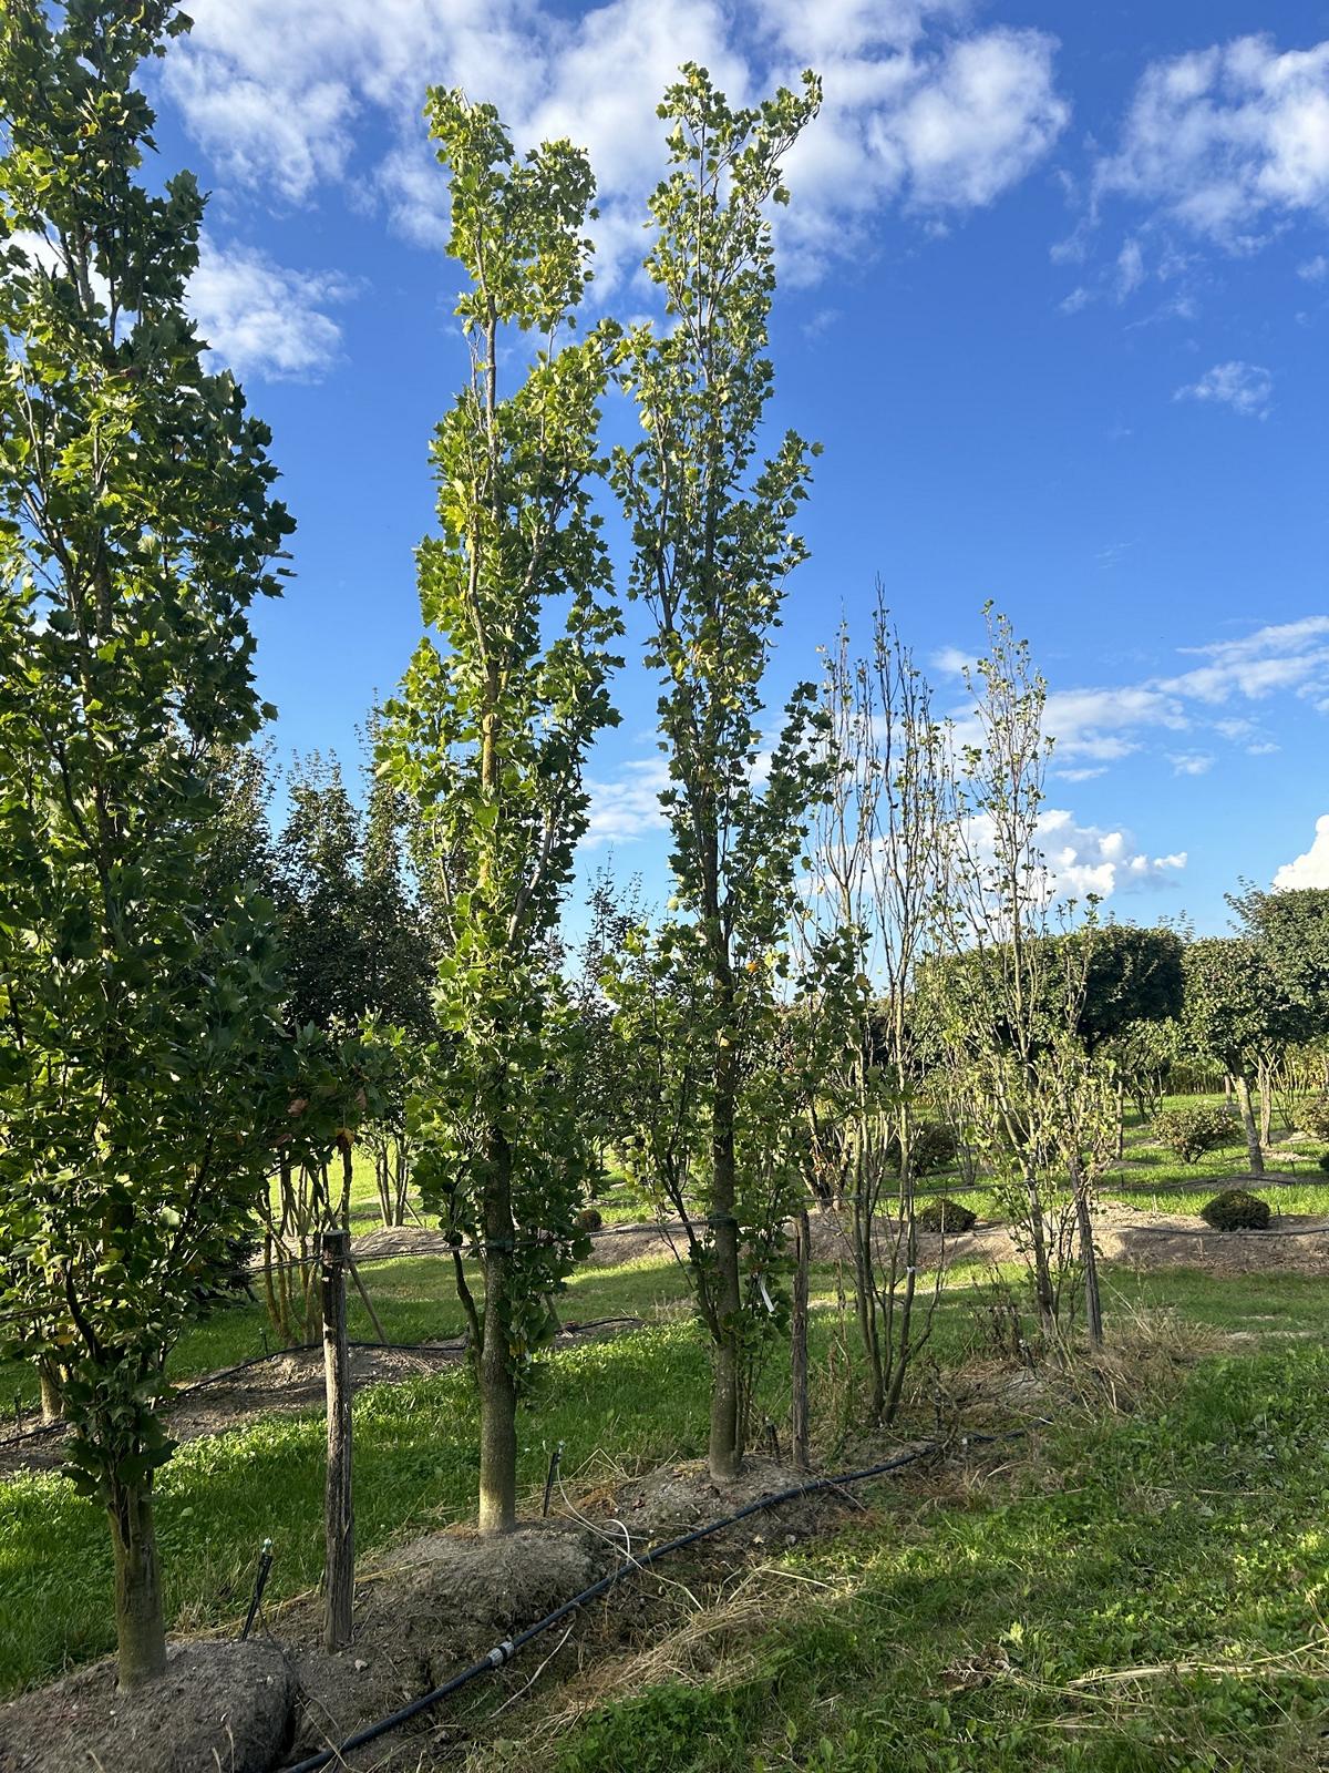
[[[97,1663],[0,1707],[0,1773],[269,1773],[294,1683],[273,1644],[184,1644],[133,1693]]]

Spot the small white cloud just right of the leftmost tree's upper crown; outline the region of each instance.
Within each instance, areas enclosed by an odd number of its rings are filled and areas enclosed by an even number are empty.
[[[353,293],[338,273],[291,271],[250,246],[204,238],[188,301],[200,337],[237,376],[317,381],[342,349],[324,307]]]

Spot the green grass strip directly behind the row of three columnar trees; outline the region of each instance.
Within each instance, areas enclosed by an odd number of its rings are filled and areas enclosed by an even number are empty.
[[[599,1303],[647,1305],[654,1275],[611,1271]],[[590,1277],[588,1277],[590,1282]],[[590,1284],[579,1300],[595,1294]],[[824,1351],[829,1324],[819,1323]],[[783,1410],[781,1372],[767,1374]],[[705,1449],[709,1362],[691,1319],[540,1362],[523,1406],[519,1482],[528,1502],[548,1449],[563,1472],[601,1456],[654,1464]],[[452,1367],[381,1385],[354,1401],[356,1544],[361,1553],[411,1530],[468,1516],[475,1504],[478,1418],[470,1376]],[[324,1424],[321,1411],[259,1420],[188,1441],[158,1479],[158,1541],[167,1615],[175,1629],[243,1615],[264,1537],[275,1548],[269,1597],[301,1592],[323,1569]],[[113,1647],[112,1564],[101,1512],[55,1473],[0,1484],[0,1691],[48,1679]]]

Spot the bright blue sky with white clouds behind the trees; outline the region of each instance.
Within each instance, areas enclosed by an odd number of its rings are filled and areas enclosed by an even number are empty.
[[[213,204],[193,301],[275,431],[298,578],[259,612],[282,750],[354,752],[420,631],[427,441],[462,355],[429,82],[569,133],[597,300],[647,309],[654,105],[801,66],[773,426],[824,445],[773,697],[874,580],[943,704],[996,599],[1049,681],[1045,842],[1116,915],[1329,885],[1329,7],[1255,0],[193,0],[152,74]],[[611,424],[626,415],[610,413]],[[595,847],[659,878],[654,688],[594,761]],[[1317,821],[1318,832],[1317,832]],[[1281,871],[1281,872],[1279,872]]]

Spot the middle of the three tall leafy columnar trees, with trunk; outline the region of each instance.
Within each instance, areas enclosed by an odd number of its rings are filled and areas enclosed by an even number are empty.
[[[514,152],[496,112],[434,90],[471,374],[432,445],[441,534],[420,546],[425,638],[386,711],[385,769],[422,814],[441,894],[443,1037],[418,1174],[478,1243],[480,1527],[516,1518],[516,1399],[576,1246],[594,1154],[560,1078],[558,911],[585,830],[583,759],[615,722],[620,619],[590,509],[608,335],[560,344],[588,280],[594,179],[567,142]],[[503,397],[503,365],[539,340]]]

